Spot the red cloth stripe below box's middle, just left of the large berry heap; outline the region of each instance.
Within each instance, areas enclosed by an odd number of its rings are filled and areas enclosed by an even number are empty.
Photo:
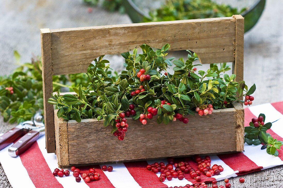
[[[155,173],[146,169],[146,166],[148,165],[146,161],[125,162],[124,165],[141,187],[168,188],[167,185],[158,180]]]

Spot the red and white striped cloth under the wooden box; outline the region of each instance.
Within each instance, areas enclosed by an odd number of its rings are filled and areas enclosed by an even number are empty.
[[[245,126],[248,126],[251,119],[258,117],[260,113],[265,114],[265,122],[277,120],[267,132],[274,138],[283,140],[283,102],[266,103],[245,109]],[[145,169],[147,164],[156,161],[162,161],[166,164],[166,159],[111,164],[113,166],[112,172],[102,171],[102,165],[80,167],[82,173],[87,172],[90,167],[94,167],[100,174],[100,180],[91,183],[85,183],[82,180],[80,183],[76,183],[72,174],[63,178],[52,175],[52,172],[57,167],[56,156],[46,152],[44,137],[37,140],[31,148],[16,158],[8,155],[8,147],[0,151],[0,162],[14,188],[22,188],[23,186],[29,188],[61,188],[74,187],[75,185],[82,188],[167,188],[196,183],[188,174],[185,174],[183,180],[173,178],[171,181],[165,180],[165,182],[160,182],[158,180],[159,174],[154,174]],[[201,175],[202,181],[223,180],[224,178],[235,177],[283,164],[283,149],[279,150],[279,156],[275,157],[267,154],[265,150],[260,148],[261,145],[249,146],[245,144],[245,151],[242,153],[211,155],[211,165],[222,165],[224,171],[212,178]],[[176,160],[188,161],[193,168],[197,168],[196,163],[190,158]],[[68,170],[70,171],[70,169]]]

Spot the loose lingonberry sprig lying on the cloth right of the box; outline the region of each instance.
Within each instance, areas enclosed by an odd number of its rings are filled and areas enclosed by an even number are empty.
[[[265,115],[260,114],[258,118],[252,118],[250,126],[245,127],[245,142],[248,145],[263,144],[261,149],[266,149],[268,154],[278,156],[278,149],[282,146],[282,141],[273,139],[266,131],[271,128],[272,123],[264,123]]]

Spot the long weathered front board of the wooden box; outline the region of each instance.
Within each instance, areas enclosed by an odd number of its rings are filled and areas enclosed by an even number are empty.
[[[121,162],[236,152],[239,151],[236,134],[239,121],[236,119],[236,111],[235,108],[230,108],[214,110],[210,116],[200,117],[196,114],[190,117],[188,124],[180,121],[169,125],[157,124],[155,116],[143,126],[129,118],[124,141],[114,139],[111,126],[103,127],[103,121],[69,120],[69,163]],[[219,135],[225,145],[211,143],[211,140],[219,139]],[[206,137],[210,139],[203,139]]]

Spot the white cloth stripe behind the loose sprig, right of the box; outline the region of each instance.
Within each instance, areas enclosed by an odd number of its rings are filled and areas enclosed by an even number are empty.
[[[265,114],[265,123],[273,122],[283,118],[283,114],[278,112],[270,103],[251,106],[249,110],[258,117],[260,114]]]

